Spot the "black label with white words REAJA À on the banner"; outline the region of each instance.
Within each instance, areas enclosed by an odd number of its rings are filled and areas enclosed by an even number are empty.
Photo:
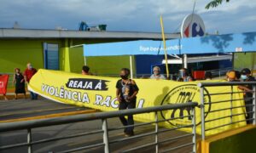
[[[70,78],[66,83],[66,87],[84,90],[108,90],[106,82],[109,81],[89,78]]]

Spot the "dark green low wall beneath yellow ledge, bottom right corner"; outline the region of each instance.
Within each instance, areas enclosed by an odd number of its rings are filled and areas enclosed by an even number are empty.
[[[211,153],[247,153],[256,152],[255,147],[256,128],[238,133],[230,137],[219,139],[210,144]]]

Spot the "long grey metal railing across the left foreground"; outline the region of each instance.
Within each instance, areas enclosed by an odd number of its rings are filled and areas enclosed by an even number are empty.
[[[98,147],[104,147],[104,152],[108,153],[111,152],[109,148],[109,144],[115,144],[119,142],[124,142],[126,140],[131,139],[139,139],[146,136],[154,136],[154,142],[150,142],[148,144],[139,145],[133,148],[130,148],[128,150],[123,150],[123,152],[132,152],[135,150],[144,149],[145,147],[154,146],[154,150],[156,153],[158,152],[170,152],[171,150],[177,150],[183,147],[193,146],[192,150],[193,152],[196,152],[196,133],[195,133],[195,106],[197,106],[197,103],[191,102],[187,104],[177,104],[177,105],[161,105],[161,106],[154,106],[154,107],[147,107],[142,109],[130,109],[130,110],[122,110],[122,111],[110,111],[110,112],[99,112],[99,113],[93,113],[93,114],[84,114],[84,115],[76,115],[76,116],[62,116],[62,117],[55,117],[55,118],[48,118],[48,119],[41,119],[41,120],[34,120],[34,121],[25,121],[25,122],[7,122],[7,123],[0,123],[0,133],[8,132],[8,131],[15,131],[15,130],[24,130],[26,129],[27,133],[27,139],[26,143],[20,143],[20,144],[8,144],[8,145],[2,145],[0,146],[0,150],[8,150],[13,149],[16,147],[21,146],[27,146],[27,152],[32,153],[32,145],[35,144],[43,144],[47,142],[52,142],[56,140],[61,139],[71,139],[75,137],[80,136],[88,136],[95,133],[102,133],[102,142],[97,144],[89,144],[82,147],[74,148],[71,150],[61,150],[59,152],[65,153],[65,152],[74,152],[79,150],[89,150],[92,148],[98,148]],[[171,117],[166,119],[160,119],[158,116],[159,111],[170,111],[174,109],[184,109],[189,108],[191,109],[191,114],[189,116],[179,116],[179,117]],[[136,114],[143,114],[143,113],[154,113],[154,121],[151,122],[143,122],[143,123],[137,123],[130,126],[122,126],[122,127],[114,127],[114,128],[108,128],[108,119],[113,117],[119,117],[119,116],[128,116],[128,115],[136,115]],[[185,125],[185,126],[179,126],[179,127],[171,127],[171,128],[164,128],[160,129],[159,123],[160,122],[166,122],[175,120],[177,118],[183,118],[183,117],[191,117],[192,121],[191,124]],[[69,134],[61,137],[56,138],[49,138],[49,139],[39,139],[39,140],[33,140],[32,139],[32,128],[36,127],[48,127],[48,126],[55,126],[55,125],[62,125],[67,123],[74,123],[74,122],[88,122],[93,120],[102,120],[102,129],[85,132],[85,133],[76,133],[76,134]],[[141,133],[132,137],[128,138],[121,138],[121,139],[110,139],[108,133],[110,131],[123,129],[125,127],[141,127],[144,125],[154,125],[154,132],[149,133]],[[183,127],[191,127],[192,133],[185,133],[180,136],[168,138],[168,139],[159,139],[160,133],[166,133],[169,131],[177,130]],[[160,144],[166,143],[166,142],[172,142],[174,140],[182,139],[185,137],[191,136],[191,142],[185,144],[179,144],[178,146],[168,148],[166,150],[160,150]]]

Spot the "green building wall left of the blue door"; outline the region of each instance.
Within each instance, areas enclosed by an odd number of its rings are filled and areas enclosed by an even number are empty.
[[[24,71],[28,62],[44,68],[44,42],[61,46],[60,40],[0,39],[0,72],[13,72],[16,67]]]

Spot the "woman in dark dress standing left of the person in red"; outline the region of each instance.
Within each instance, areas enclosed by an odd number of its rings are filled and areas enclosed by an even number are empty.
[[[24,94],[24,98],[26,99],[25,78],[20,73],[19,68],[15,69],[13,84],[15,84],[15,99],[17,99],[18,94]]]

